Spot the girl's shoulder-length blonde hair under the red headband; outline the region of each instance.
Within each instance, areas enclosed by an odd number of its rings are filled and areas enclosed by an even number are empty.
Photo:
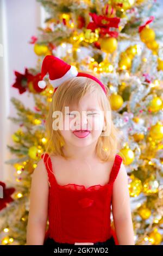
[[[95,76],[95,74],[92,74],[91,72],[86,73]],[[53,130],[52,114],[54,111],[61,111],[64,116],[65,106],[70,107],[72,104],[78,105],[78,102],[86,93],[95,93],[97,100],[104,111],[105,126],[108,127],[109,125],[110,128],[108,136],[99,136],[96,144],[96,155],[99,157],[99,159],[101,159],[102,162],[115,159],[115,155],[121,147],[121,132],[115,127],[112,121],[108,87],[105,86],[105,89],[107,92],[106,95],[102,87],[97,82],[87,77],[71,78],[70,80],[63,82],[57,88],[53,94],[52,102],[50,102],[49,111],[46,118],[45,125],[48,139],[46,153],[55,156],[59,155],[65,159],[68,159],[68,157],[65,156],[64,152],[62,151],[62,145],[64,145],[65,141],[60,133],[60,130]],[[107,111],[110,113],[109,120],[106,115]]]

